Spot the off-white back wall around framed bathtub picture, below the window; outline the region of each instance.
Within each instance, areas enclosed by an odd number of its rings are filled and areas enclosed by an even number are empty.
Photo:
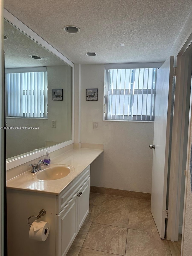
[[[98,101],[86,101],[88,88],[98,88]],[[82,65],[81,143],[104,144],[91,164],[91,185],[151,193],[154,124],[103,121],[103,91],[104,65]]]

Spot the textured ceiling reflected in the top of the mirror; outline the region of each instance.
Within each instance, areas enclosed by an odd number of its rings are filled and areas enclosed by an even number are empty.
[[[5,68],[65,65],[63,61],[7,21],[4,22],[4,35],[8,37],[4,40]],[[42,59],[32,59],[30,57],[32,55],[40,56]]]

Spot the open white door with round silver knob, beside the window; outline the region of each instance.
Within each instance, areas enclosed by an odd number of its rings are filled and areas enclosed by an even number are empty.
[[[165,238],[173,60],[171,56],[158,69],[155,98],[151,212],[161,238]]]

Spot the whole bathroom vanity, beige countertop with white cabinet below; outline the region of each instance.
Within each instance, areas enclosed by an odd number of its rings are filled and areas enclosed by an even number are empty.
[[[74,167],[61,179],[38,180],[28,171],[7,181],[8,256],[67,254],[89,212],[90,164],[102,152],[72,149],[54,158],[51,164]],[[37,216],[41,209],[46,214],[39,220],[50,224],[44,242],[29,239],[28,218]],[[30,222],[34,220],[31,218]]]

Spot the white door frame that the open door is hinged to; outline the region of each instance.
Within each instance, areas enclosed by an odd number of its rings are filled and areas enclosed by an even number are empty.
[[[173,129],[172,129],[172,145],[171,145],[171,162],[170,162],[170,184],[169,184],[169,202],[168,202],[168,221],[167,221],[167,240],[172,242],[178,241],[179,236],[179,209],[182,179],[182,159],[184,148],[184,126],[185,111],[187,104],[187,93],[190,85],[187,86],[189,59],[186,55],[191,48],[191,35],[187,38],[184,45],[177,55],[176,67],[176,86],[174,99]],[[192,95],[192,93],[191,93]],[[190,108],[191,108],[190,97]],[[190,110],[191,111],[191,110]],[[189,115],[190,129],[190,115]],[[188,130],[188,141],[189,141]],[[189,143],[187,143],[187,163],[188,163]],[[187,167],[186,167],[187,168]],[[181,172],[182,170],[182,172]],[[186,181],[185,181],[186,183]],[[185,184],[186,190],[186,184]]]

